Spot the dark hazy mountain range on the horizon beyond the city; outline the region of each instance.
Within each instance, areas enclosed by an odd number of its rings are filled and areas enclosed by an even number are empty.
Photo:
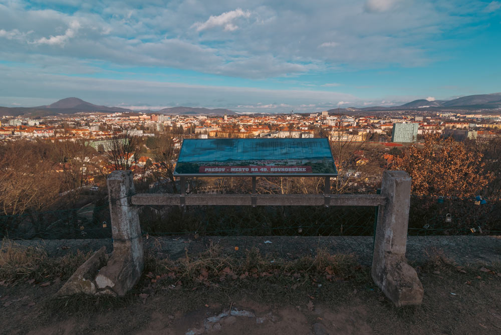
[[[408,102],[401,106],[393,107],[364,107],[364,108],[336,108],[330,109],[331,113],[356,112],[356,111],[383,111],[383,110],[424,110],[424,109],[495,109],[501,108],[501,93],[467,95],[452,100],[419,99]],[[3,115],[30,115],[49,116],[58,114],[75,114],[79,112],[137,112],[121,107],[108,107],[94,105],[79,98],[65,98],[50,105],[37,107],[0,107],[0,116]],[[223,108],[201,108],[201,107],[170,107],[157,111],[146,110],[143,112],[161,113],[167,115],[235,115],[238,112]]]

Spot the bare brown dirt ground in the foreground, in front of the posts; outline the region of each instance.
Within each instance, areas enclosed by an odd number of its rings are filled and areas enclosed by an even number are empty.
[[[501,276],[415,265],[423,304],[396,308],[370,280],[283,285],[272,278],[235,286],[138,285],[123,299],[58,300],[62,282],[0,286],[2,334],[500,334]],[[147,278],[145,278],[147,281]],[[49,283],[49,284],[47,284]]]

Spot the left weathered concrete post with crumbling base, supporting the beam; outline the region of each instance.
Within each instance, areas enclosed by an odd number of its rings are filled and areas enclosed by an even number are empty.
[[[143,240],[131,171],[114,171],[106,180],[110,202],[113,254],[96,277],[99,289],[123,296],[139,280],[144,268]]]

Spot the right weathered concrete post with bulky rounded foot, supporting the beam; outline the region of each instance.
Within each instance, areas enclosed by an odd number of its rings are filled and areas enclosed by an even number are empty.
[[[397,306],[419,305],[423,285],[405,258],[409,224],[411,178],[404,171],[385,171],[381,195],[387,199],[379,206],[372,279]]]

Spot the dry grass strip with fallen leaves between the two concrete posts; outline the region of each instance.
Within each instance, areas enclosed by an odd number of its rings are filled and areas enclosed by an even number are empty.
[[[198,286],[247,286],[250,281],[266,281],[285,287],[322,282],[366,282],[370,280],[369,267],[361,266],[354,255],[330,254],[318,249],[314,257],[294,260],[263,256],[252,248],[242,256],[220,253],[218,246],[210,245],[198,256],[172,261],[147,257],[144,284],[196,288]]]

